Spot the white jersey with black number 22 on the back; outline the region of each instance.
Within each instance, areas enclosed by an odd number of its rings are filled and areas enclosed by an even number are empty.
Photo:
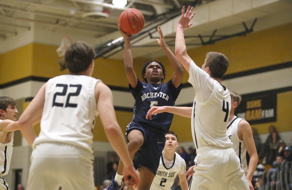
[[[94,89],[98,81],[85,75],[61,75],[47,82],[40,135],[33,147],[42,142],[61,142],[93,153],[97,116]]]

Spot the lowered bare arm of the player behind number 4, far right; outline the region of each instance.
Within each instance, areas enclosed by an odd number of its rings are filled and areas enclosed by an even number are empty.
[[[252,186],[252,176],[255,172],[255,168],[258,164],[259,158],[255,148],[255,141],[252,136],[252,128],[250,127],[249,123],[245,120],[241,120],[239,122],[238,128],[240,130],[240,133],[242,134],[243,143],[245,144],[246,150],[250,156],[249,170],[246,175],[246,180],[249,184],[249,189],[254,190]]]

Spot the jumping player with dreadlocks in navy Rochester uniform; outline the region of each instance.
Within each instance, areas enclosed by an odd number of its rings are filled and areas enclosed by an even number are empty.
[[[138,190],[150,189],[151,183],[159,166],[159,160],[165,145],[165,133],[169,132],[173,114],[163,113],[155,115],[152,120],[146,119],[146,114],[154,105],[174,106],[174,102],[182,89],[183,70],[169,47],[165,44],[164,36],[158,26],[159,39],[158,45],[164,50],[169,62],[174,69],[171,80],[165,84],[165,67],[162,62],[150,61],[144,64],[142,68],[141,82],[133,69],[133,58],[130,48],[130,35],[123,33],[119,27],[120,33],[124,38],[124,64],[129,81],[129,88],[135,98],[134,116],[132,122],[127,126],[127,148],[130,156],[135,158],[135,164],[140,171],[140,183]],[[120,189],[123,179],[123,163],[120,162],[115,179],[106,189]]]

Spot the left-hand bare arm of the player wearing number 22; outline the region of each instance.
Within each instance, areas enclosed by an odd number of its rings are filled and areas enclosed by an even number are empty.
[[[39,92],[24,110],[18,121],[20,125],[20,131],[30,146],[33,145],[33,141],[36,138],[33,125],[40,122],[40,118],[43,113],[46,84],[40,88]]]

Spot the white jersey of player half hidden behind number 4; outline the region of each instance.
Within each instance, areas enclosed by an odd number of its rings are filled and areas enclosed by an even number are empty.
[[[237,133],[238,124],[241,120],[244,120],[244,119],[238,118],[236,116],[234,116],[234,118],[230,120],[227,126],[227,135],[233,144],[232,148],[234,149],[236,155],[238,155],[239,157],[241,168],[245,172],[247,172],[248,168],[247,168],[247,162],[246,162],[246,147],[245,147],[244,142],[238,138],[238,133]]]

